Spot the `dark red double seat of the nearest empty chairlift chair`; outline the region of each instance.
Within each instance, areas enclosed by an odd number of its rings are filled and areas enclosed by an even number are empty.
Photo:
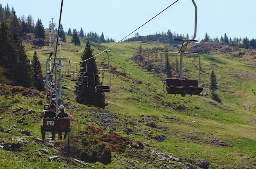
[[[168,94],[181,94],[182,97],[186,94],[200,94],[203,87],[198,87],[198,80],[196,79],[165,79],[164,86],[166,87],[166,93]],[[164,90],[165,92],[165,90]]]

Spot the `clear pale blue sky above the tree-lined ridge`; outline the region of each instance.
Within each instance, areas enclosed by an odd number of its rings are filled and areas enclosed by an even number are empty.
[[[77,29],[87,34],[90,31],[105,39],[123,39],[139,26],[146,23],[176,0],[63,0],[61,24],[64,31]],[[31,14],[34,22],[42,20],[49,28],[50,18],[59,22],[61,0],[1,0],[2,7],[9,5],[17,17]],[[195,40],[202,40],[207,33],[211,38],[227,36],[249,40],[256,37],[255,0],[195,0],[198,8],[197,34]],[[195,8],[192,0],[178,0],[156,18],[142,26],[135,33],[153,35],[167,32],[194,35]],[[132,33],[128,38],[134,37]]]

